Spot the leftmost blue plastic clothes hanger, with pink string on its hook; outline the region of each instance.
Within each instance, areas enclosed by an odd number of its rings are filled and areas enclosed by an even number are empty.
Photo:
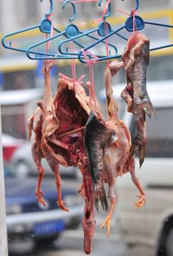
[[[42,1],[42,0],[40,0],[40,1]],[[1,43],[4,46],[4,48],[7,48],[9,50],[17,50],[17,51],[21,51],[21,52],[26,53],[25,48],[13,47],[12,46],[12,41],[10,40],[10,37],[14,36],[15,34],[22,34],[23,32],[31,31],[31,30],[34,30],[34,29],[37,29],[37,28],[42,33],[50,34],[51,33],[51,21],[50,21],[49,17],[52,13],[53,13],[53,0],[50,0],[50,12],[45,14],[45,18],[43,20],[41,20],[41,22],[38,25],[30,26],[26,29],[21,29],[21,30],[15,31],[13,33],[4,35],[4,37],[2,37]],[[53,30],[55,30],[56,32],[60,32],[58,29],[55,29],[55,27],[53,27]],[[7,41],[7,39],[8,39],[8,41]]]

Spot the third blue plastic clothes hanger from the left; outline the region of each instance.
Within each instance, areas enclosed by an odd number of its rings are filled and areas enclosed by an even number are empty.
[[[101,6],[101,2],[102,0],[99,0],[99,6]],[[69,39],[65,39],[64,41],[62,41],[59,46],[58,46],[58,50],[61,54],[67,54],[64,50],[62,50],[62,46],[64,44],[66,44],[67,42],[70,42],[70,41],[74,41],[75,39],[78,39],[78,38],[82,38],[82,37],[91,37],[93,38],[93,36],[91,36],[92,33],[94,32],[97,32],[99,34],[99,36],[101,37],[104,37],[105,36],[105,25],[107,26],[107,30],[108,30],[108,33],[110,31],[112,31],[111,29],[111,26],[110,24],[106,21],[106,18],[109,17],[110,15],[110,10],[111,10],[111,5],[109,4],[109,7],[108,7],[108,11],[107,11],[107,14],[104,15],[104,20],[101,21],[101,23],[99,23],[99,26],[98,28],[96,29],[91,29],[89,31],[86,31],[86,32],[83,32],[82,34],[78,34],[77,36],[75,37],[72,37],[72,38],[69,38]],[[99,39],[97,39],[96,42],[99,42]],[[106,42],[104,42],[104,40],[101,40],[102,43],[106,44]],[[118,53],[118,50],[117,48],[115,47],[115,45],[112,45],[112,44],[108,44],[111,48],[113,48],[113,50],[115,51],[115,54]],[[69,53],[68,54],[75,54],[75,53]],[[77,56],[78,56],[79,53],[77,53]],[[101,57],[101,56],[99,56]]]

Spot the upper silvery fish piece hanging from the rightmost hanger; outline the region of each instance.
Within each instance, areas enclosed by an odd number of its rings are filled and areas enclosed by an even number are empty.
[[[135,120],[142,118],[142,110],[149,117],[155,116],[155,110],[147,94],[146,74],[149,60],[150,40],[145,34],[135,33],[131,35],[123,52],[122,61],[126,69],[127,83],[133,86],[133,114]]]

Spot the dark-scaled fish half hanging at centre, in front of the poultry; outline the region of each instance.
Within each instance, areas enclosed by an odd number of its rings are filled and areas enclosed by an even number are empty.
[[[99,200],[104,211],[108,210],[107,196],[104,190],[104,152],[106,148],[117,140],[113,129],[106,127],[99,113],[91,113],[85,124],[83,135],[85,152],[88,156],[88,165],[91,172],[93,191],[95,195],[94,206],[99,211]]]

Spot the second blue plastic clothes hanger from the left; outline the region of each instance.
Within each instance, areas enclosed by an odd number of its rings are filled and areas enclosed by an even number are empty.
[[[43,45],[46,42],[49,42],[57,37],[61,37],[61,35],[64,35],[65,37],[71,38],[78,37],[80,34],[84,34],[77,28],[76,25],[72,23],[72,20],[76,18],[76,9],[74,4],[71,2],[71,0],[65,0],[63,4],[63,8],[66,7],[66,4],[70,3],[73,7],[73,16],[69,19],[70,23],[66,26],[66,29],[64,31],[61,31],[58,34],[55,34],[53,37],[49,37],[48,39],[42,40],[41,42],[38,42],[34,45],[31,45],[27,50],[26,54],[29,59],[78,59],[78,52],[77,53],[69,53],[68,48],[66,48],[66,52],[62,53],[63,55],[55,54],[55,53],[45,53],[45,52],[38,52],[37,50],[31,50],[33,48],[38,47],[39,45]],[[97,37],[93,37],[90,34],[87,35],[87,37],[90,37],[91,39],[95,39],[96,41],[99,40]],[[80,48],[83,48],[83,46],[77,42],[75,39],[73,39],[73,42],[80,46]],[[105,42],[103,42],[105,44]],[[117,48],[114,45],[110,45],[112,48],[115,49],[115,53],[117,53]]]

